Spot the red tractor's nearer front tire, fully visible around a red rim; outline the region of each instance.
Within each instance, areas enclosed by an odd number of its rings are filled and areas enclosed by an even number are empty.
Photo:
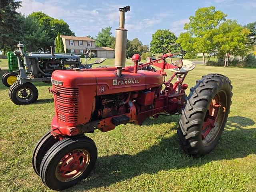
[[[74,152],[74,153],[73,153]],[[81,156],[79,156],[79,162],[75,162],[75,158],[69,161],[69,157],[74,155],[78,156],[81,154],[86,154],[86,159],[82,159],[84,161],[88,161],[85,164],[85,167],[79,170],[79,172],[75,171],[74,178],[70,177],[68,174],[71,174],[72,169],[77,168],[79,164],[81,164]],[[52,190],[63,190],[65,188],[69,188],[79,182],[82,178],[88,176],[92,168],[94,167],[97,160],[97,148],[92,139],[86,136],[73,136],[71,138],[64,138],[54,144],[48,150],[46,155],[44,156],[41,167],[40,167],[40,175],[43,183],[48,186]],[[62,170],[62,166],[71,169],[70,170]],[[70,164],[70,165],[69,165]],[[74,166],[74,168],[72,168]],[[64,174],[64,176],[62,176]]]

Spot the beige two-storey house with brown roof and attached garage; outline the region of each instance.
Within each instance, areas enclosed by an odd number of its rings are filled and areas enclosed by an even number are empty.
[[[114,58],[115,50],[110,47],[96,47],[95,40],[88,37],[76,37],[61,35],[65,53],[84,54],[86,48],[96,57]]]

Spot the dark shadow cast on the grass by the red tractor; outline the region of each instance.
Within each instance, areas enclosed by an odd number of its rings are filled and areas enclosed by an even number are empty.
[[[232,129],[224,130],[216,149],[200,158],[193,158],[182,152],[176,134],[168,138],[161,135],[162,140],[159,144],[135,155],[114,154],[98,157],[90,176],[74,186],[74,190],[84,191],[110,186],[113,183],[131,179],[143,173],[154,174],[161,170],[202,166],[213,160],[230,160],[255,154],[256,147],[253,147],[252,143],[255,142],[256,128],[242,128],[254,124],[253,120],[245,117],[228,118],[227,125],[231,125]]]

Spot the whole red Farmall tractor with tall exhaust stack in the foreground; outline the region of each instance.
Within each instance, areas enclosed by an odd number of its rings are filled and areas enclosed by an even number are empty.
[[[126,67],[124,18],[130,7],[119,10],[115,67],[52,73],[55,116],[51,131],[36,145],[32,162],[35,172],[53,190],[76,184],[94,167],[96,144],[84,133],[96,129],[107,132],[128,122],[140,125],[146,118],[163,113],[181,114],[180,145],[187,154],[202,156],[215,148],[224,130],[232,97],[230,80],[221,74],[202,76],[186,96],[188,85],[183,81],[194,64],[182,61],[183,57],[167,62],[167,58],[183,56],[182,48],[174,43],[168,46],[176,45],[176,52],[167,46],[161,58],[148,58],[145,64],[138,64],[140,55],[135,54],[134,66]],[[166,69],[173,71],[169,80]],[[172,82],[174,78],[176,82]]]

